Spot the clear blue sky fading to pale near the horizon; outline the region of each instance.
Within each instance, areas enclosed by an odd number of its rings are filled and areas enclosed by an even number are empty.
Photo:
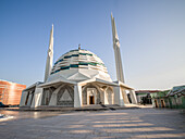
[[[185,0],[0,0],[0,79],[44,80],[53,23],[54,61],[81,43],[115,80],[111,12],[128,86],[185,85]]]

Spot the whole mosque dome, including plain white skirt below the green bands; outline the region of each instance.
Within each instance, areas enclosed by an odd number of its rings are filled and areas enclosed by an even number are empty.
[[[47,81],[58,79],[59,77],[74,81],[94,77],[111,81],[101,59],[84,49],[71,50],[58,59]]]

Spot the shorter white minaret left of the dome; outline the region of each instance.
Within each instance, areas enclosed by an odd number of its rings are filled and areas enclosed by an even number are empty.
[[[45,81],[48,79],[48,76],[50,75],[50,72],[52,68],[52,62],[53,62],[53,24],[52,24],[52,29],[50,33],[48,56],[47,56],[47,63],[46,63],[46,70],[45,70]]]

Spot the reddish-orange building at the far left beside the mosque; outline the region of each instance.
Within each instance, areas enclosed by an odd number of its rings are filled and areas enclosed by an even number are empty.
[[[0,79],[0,102],[3,104],[18,105],[21,101],[22,90],[26,85],[5,81]]]

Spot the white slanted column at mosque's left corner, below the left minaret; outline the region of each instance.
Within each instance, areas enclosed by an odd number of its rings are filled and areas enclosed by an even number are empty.
[[[41,105],[42,91],[44,91],[42,88],[36,87],[30,108],[37,108]]]

